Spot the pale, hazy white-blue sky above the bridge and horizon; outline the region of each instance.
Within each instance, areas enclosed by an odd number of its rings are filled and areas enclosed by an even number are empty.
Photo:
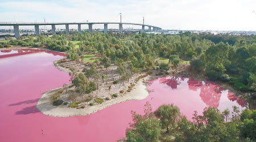
[[[122,12],[164,29],[256,31],[253,10],[255,0],[0,0],[0,22],[118,22]]]

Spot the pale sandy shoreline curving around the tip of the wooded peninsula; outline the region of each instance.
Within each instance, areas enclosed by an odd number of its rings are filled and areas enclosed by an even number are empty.
[[[69,117],[69,116],[81,116],[81,115],[89,115],[102,110],[106,107],[115,105],[117,103],[131,101],[131,100],[139,100],[144,99],[148,96],[148,91],[146,89],[146,85],[144,85],[143,80],[147,80],[148,77],[145,77],[142,80],[139,80],[137,84],[134,86],[134,89],[117,98],[110,99],[109,101],[104,101],[100,105],[89,106],[81,109],[71,108],[71,107],[59,107],[53,106],[51,101],[51,94],[60,90],[62,87],[58,89],[50,90],[42,95],[39,99],[36,108],[41,111],[44,115],[55,116],[55,117]]]

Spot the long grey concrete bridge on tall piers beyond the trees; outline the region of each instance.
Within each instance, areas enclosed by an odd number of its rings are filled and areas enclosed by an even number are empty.
[[[66,34],[69,35],[69,24],[77,24],[78,32],[81,32],[81,24],[88,24],[89,32],[92,32],[93,24],[104,24],[104,33],[108,32],[108,24],[119,24],[119,33],[123,32],[123,24],[138,25],[142,26],[142,31],[145,31],[145,26],[148,27],[148,31],[158,31],[162,30],[160,27],[151,26],[148,24],[137,24],[137,23],[120,23],[120,22],[55,22],[55,23],[9,23],[9,22],[0,22],[0,26],[14,26],[15,37],[19,37],[19,26],[35,26],[35,35],[39,36],[39,26],[51,25],[52,26],[52,35],[55,35],[55,26],[56,25],[65,25]]]

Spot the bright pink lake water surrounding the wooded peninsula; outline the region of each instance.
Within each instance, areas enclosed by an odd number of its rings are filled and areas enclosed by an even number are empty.
[[[142,113],[147,101],[154,110],[174,103],[190,120],[193,111],[201,114],[207,106],[222,111],[233,105],[243,110],[246,105],[215,83],[170,76],[150,81],[147,89],[152,92],[143,100],[118,103],[87,116],[46,116],[36,103],[44,92],[70,83],[68,73],[53,65],[65,55],[35,49],[10,52],[0,55],[0,141],[116,141],[125,136],[130,111]]]

